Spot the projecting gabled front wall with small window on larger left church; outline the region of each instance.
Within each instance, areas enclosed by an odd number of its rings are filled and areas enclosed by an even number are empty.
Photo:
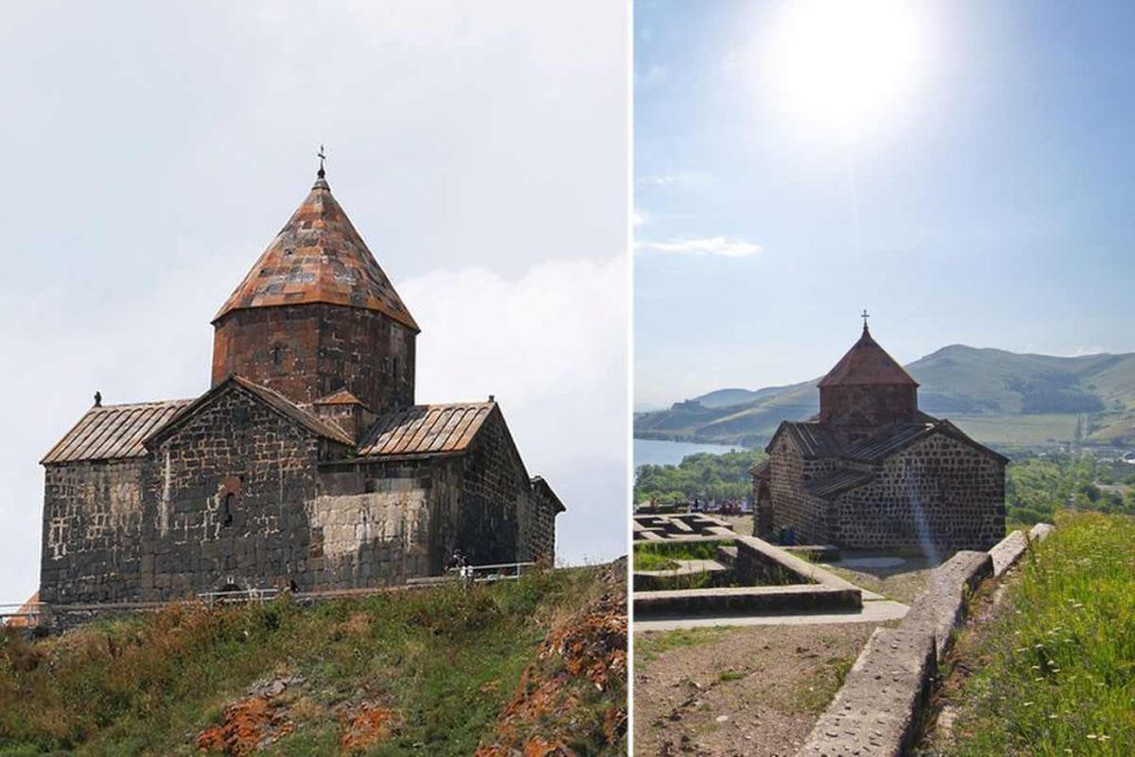
[[[327,444],[236,385],[173,430],[145,466],[141,598],[314,586],[305,503]]]

